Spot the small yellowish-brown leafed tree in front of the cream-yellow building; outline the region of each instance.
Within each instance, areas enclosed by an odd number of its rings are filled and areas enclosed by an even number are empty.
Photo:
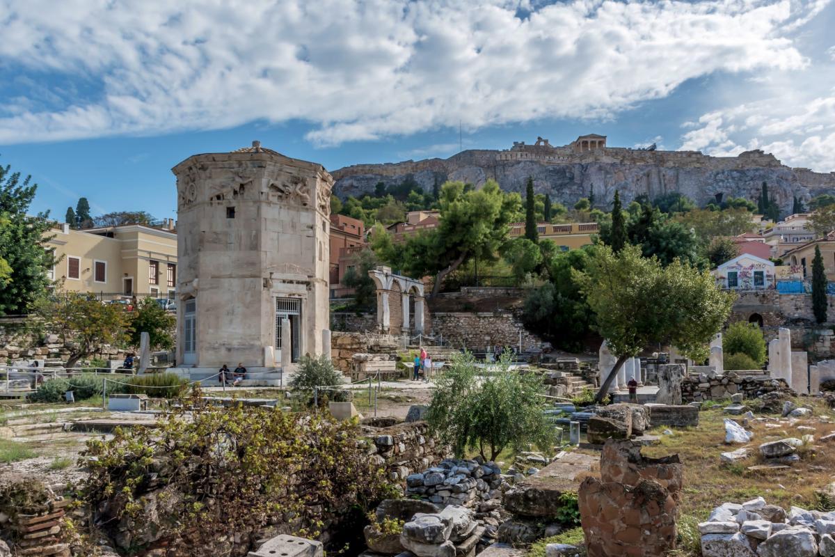
[[[38,327],[54,332],[69,353],[67,367],[105,344],[119,346],[129,339],[129,317],[118,304],[104,304],[78,292],[58,292],[34,306]]]

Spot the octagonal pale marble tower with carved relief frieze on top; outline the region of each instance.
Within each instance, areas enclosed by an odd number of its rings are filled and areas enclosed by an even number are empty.
[[[322,353],[329,327],[331,185],[258,141],[176,165],[177,363],[271,368]],[[281,327],[290,324],[291,334]],[[282,338],[290,347],[282,347]],[[325,347],[330,351],[330,347]],[[286,355],[285,355],[286,356]]]

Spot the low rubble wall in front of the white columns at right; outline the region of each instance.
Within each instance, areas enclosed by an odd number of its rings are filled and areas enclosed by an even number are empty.
[[[748,373],[757,373],[751,375]],[[744,398],[757,398],[767,392],[785,392],[789,390],[787,383],[782,379],[772,379],[762,375],[762,370],[751,370],[751,372],[725,372],[724,375],[716,377],[688,376],[681,382],[681,398],[685,403],[700,402],[704,400],[717,400],[730,398],[732,394],[742,393]]]

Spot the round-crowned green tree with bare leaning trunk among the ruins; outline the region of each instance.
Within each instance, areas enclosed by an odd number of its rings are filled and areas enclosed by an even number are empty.
[[[594,328],[617,357],[595,400],[600,403],[618,370],[646,347],[672,345],[694,359],[731,311],[733,297],[716,287],[709,272],[681,261],[661,266],[640,255],[638,246],[615,253],[600,246],[586,271],[572,271],[595,313]]]

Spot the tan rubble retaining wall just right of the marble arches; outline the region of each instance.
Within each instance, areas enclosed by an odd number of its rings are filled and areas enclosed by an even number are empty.
[[[540,347],[543,340],[526,331],[519,318],[510,311],[485,313],[433,313],[433,335],[443,335],[443,342],[452,347],[484,349],[488,346],[519,347],[519,331],[522,332],[522,348]]]

